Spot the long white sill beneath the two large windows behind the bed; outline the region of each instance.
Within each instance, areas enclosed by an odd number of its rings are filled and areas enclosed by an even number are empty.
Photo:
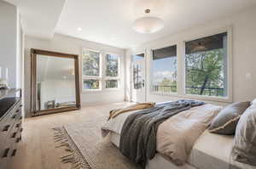
[[[200,99],[205,101],[222,102],[222,103],[233,102],[233,100],[229,97],[214,97],[214,96],[200,96],[200,95],[193,95],[193,94],[155,93],[155,92],[150,92],[150,94],[160,95],[160,96],[172,96],[175,98],[182,98],[182,99]]]

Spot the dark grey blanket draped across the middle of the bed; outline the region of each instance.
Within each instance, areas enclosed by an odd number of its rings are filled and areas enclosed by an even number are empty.
[[[145,166],[156,153],[156,132],[159,125],[172,115],[202,104],[204,103],[194,100],[178,100],[129,115],[121,131],[121,153],[131,161]]]

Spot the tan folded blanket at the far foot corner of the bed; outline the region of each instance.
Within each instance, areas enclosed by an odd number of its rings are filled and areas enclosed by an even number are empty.
[[[114,117],[116,117],[117,115],[129,112],[129,111],[133,111],[133,110],[145,110],[145,109],[150,109],[152,107],[154,107],[155,103],[153,102],[147,102],[147,103],[140,103],[140,104],[134,104],[122,109],[116,109],[116,110],[111,110],[109,112],[109,117],[108,117],[108,121],[110,119],[113,119]]]

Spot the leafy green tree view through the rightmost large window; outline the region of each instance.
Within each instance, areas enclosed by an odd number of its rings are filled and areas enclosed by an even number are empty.
[[[224,95],[223,48],[186,54],[186,88],[190,94]]]

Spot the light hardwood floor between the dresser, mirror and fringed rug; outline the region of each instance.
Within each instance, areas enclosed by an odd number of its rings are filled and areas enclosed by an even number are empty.
[[[55,148],[52,128],[106,116],[109,110],[129,104],[131,103],[102,104],[76,111],[27,118],[23,124],[22,141],[12,169],[69,169],[68,164],[61,163],[60,157],[65,152]]]

